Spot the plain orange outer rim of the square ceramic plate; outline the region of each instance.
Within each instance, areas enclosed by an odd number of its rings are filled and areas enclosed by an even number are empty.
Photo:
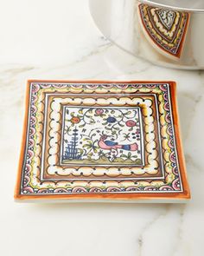
[[[26,137],[27,137],[27,125],[28,125],[28,111],[29,111],[29,92],[30,85],[33,82],[39,83],[168,83],[170,86],[170,95],[171,95],[171,108],[173,113],[173,121],[175,127],[175,138],[176,138],[176,148],[179,157],[179,166],[180,166],[180,174],[182,179],[182,187],[183,192],[181,193],[168,193],[168,194],[21,194],[21,180],[22,180],[22,164],[24,158],[24,151],[26,147]],[[26,97],[25,97],[25,113],[24,113],[24,121],[22,128],[22,145],[20,152],[20,159],[17,171],[16,178],[16,187],[14,193],[15,201],[66,201],[66,202],[80,202],[80,201],[99,201],[99,202],[165,202],[172,203],[178,202],[182,203],[190,199],[190,191],[188,186],[186,167],[184,162],[184,154],[182,151],[182,140],[180,137],[180,123],[178,118],[178,109],[177,109],[177,101],[176,101],[176,83],[173,81],[65,81],[65,80],[29,80],[26,86]],[[144,201],[143,201],[144,200]]]

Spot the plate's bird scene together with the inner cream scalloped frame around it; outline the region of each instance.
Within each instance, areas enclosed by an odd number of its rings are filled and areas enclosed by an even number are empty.
[[[45,95],[41,181],[163,178],[156,95]]]

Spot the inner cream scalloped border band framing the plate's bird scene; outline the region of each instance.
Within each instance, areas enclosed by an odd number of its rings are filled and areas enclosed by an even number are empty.
[[[48,99],[51,95],[47,94],[46,98]],[[106,96],[106,98],[104,98]],[[48,152],[48,157],[45,157],[45,162],[48,163],[47,166],[47,172],[48,174],[59,174],[61,175],[61,178],[65,175],[73,174],[75,176],[75,179],[78,179],[80,174],[80,180],[83,179],[89,179],[90,175],[94,175],[95,177],[99,177],[99,179],[105,179],[103,178],[103,174],[107,175],[109,178],[118,177],[120,176],[121,179],[123,179],[125,176],[131,178],[132,174],[142,175],[142,174],[151,174],[149,175],[149,179],[153,177],[153,174],[157,174],[159,172],[159,161],[158,161],[158,155],[160,148],[158,147],[159,143],[156,141],[156,135],[154,134],[154,123],[156,122],[153,117],[153,109],[152,105],[156,104],[156,99],[153,97],[153,95],[134,95],[134,96],[113,96],[113,95],[98,95],[98,97],[93,97],[92,95],[92,106],[98,107],[104,107],[104,106],[110,106],[110,103],[117,104],[121,107],[124,106],[124,104],[128,104],[129,106],[142,106],[143,108],[143,122],[145,128],[143,128],[144,131],[144,139],[146,144],[146,155],[147,155],[147,163],[145,167],[121,167],[118,165],[117,167],[63,167],[58,164],[59,161],[59,151],[61,148],[61,140],[59,140],[59,135],[61,135],[61,115],[58,115],[60,112],[61,106],[70,105],[70,106],[76,106],[80,104],[83,101],[87,101],[88,103],[88,96],[86,95],[85,98],[81,98],[81,95],[69,95],[66,98],[62,98],[62,95],[54,94],[52,100],[47,100],[47,104],[50,106],[50,111],[47,109],[45,110],[45,115],[49,116],[48,125],[44,126],[45,128],[48,127],[48,131],[46,133],[46,129],[44,129],[44,134],[51,135],[51,138],[49,139],[48,148],[42,148],[41,150],[43,152]],[[90,96],[89,96],[90,97]],[[153,102],[153,99],[156,102]],[[113,103],[114,102],[114,103]],[[86,103],[85,103],[86,104]],[[48,112],[48,113],[47,113]],[[145,115],[145,116],[144,116]],[[148,125],[147,125],[148,124]],[[157,125],[157,122],[156,122]],[[40,132],[40,130],[36,130],[37,133]],[[45,141],[45,136],[43,138]],[[153,144],[153,141],[154,144]],[[151,143],[150,143],[151,141]],[[43,144],[43,143],[42,143]],[[161,143],[160,143],[161,144]],[[161,147],[161,145],[160,145]],[[162,157],[161,157],[162,158]],[[43,166],[43,161],[41,161],[41,166]],[[76,165],[77,166],[77,165]],[[86,172],[84,170],[86,169]],[[162,168],[163,169],[163,168]],[[41,171],[41,174],[43,171]],[[121,177],[122,176],[122,177]],[[124,176],[124,177],[123,177]],[[53,177],[54,178],[54,177]],[[142,179],[142,178],[141,178]],[[42,180],[42,175],[41,175]],[[52,180],[52,178],[51,178]],[[59,177],[58,177],[59,180]],[[94,179],[93,179],[94,180]]]

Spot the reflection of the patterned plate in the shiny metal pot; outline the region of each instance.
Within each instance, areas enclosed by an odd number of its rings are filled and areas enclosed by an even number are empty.
[[[138,11],[143,31],[148,39],[150,37],[151,42],[155,43],[156,49],[162,49],[161,53],[164,51],[170,56],[180,58],[188,30],[188,12],[168,10],[143,3],[138,5]],[[175,16],[169,28],[163,20],[160,20],[159,12],[163,13],[166,23],[168,23],[169,12],[171,16]]]

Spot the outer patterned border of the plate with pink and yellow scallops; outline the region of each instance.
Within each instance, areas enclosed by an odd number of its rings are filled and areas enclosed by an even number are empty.
[[[22,161],[20,162],[20,178],[16,186],[16,198],[36,194],[188,194],[185,172],[182,175],[178,159],[175,127],[173,122],[172,102],[169,82],[30,82],[29,83],[29,116],[27,136],[23,145]],[[41,144],[43,133],[36,133],[43,128],[46,93],[66,94],[124,94],[138,93],[156,94],[159,100],[160,126],[163,137],[165,178],[156,181],[41,181]],[[25,152],[24,152],[25,149]],[[181,156],[182,157],[182,156]],[[182,163],[183,166],[183,163]],[[185,191],[183,189],[185,185]],[[103,197],[104,197],[103,196]],[[129,196],[130,197],[130,196]],[[128,198],[129,198],[128,197]]]

